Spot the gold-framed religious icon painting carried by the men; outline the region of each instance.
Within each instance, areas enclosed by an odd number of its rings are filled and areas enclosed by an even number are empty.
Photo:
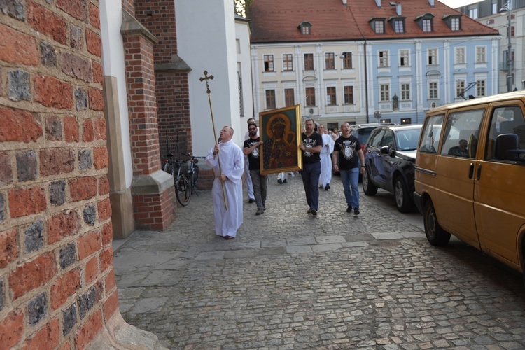
[[[295,172],[302,169],[300,105],[259,113],[262,141],[260,173]]]

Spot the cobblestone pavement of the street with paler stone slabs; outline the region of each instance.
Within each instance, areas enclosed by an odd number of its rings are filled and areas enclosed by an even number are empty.
[[[421,216],[340,179],[307,214],[300,177],[271,177],[267,211],[214,235],[201,190],[166,232],[115,241],[120,311],[169,349],[525,349],[521,275],[452,239],[435,248]],[[245,195],[246,196],[246,195]]]

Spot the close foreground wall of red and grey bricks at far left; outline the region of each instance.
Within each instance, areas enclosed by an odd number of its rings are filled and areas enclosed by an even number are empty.
[[[84,349],[118,311],[98,5],[0,1],[1,349]]]

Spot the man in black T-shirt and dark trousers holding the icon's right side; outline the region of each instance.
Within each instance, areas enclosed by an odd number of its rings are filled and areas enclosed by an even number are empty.
[[[307,197],[308,213],[317,215],[319,205],[319,176],[321,176],[321,149],[323,149],[323,137],[314,131],[314,120],[307,119],[304,122],[304,130],[301,134],[302,151],[302,184]]]

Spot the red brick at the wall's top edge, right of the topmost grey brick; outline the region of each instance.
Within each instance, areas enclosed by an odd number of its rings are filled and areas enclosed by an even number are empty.
[[[27,4],[27,22],[36,31],[50,36],[53,40],[65,45],[67,40],[66,21],[47,8],[29,1]]]

